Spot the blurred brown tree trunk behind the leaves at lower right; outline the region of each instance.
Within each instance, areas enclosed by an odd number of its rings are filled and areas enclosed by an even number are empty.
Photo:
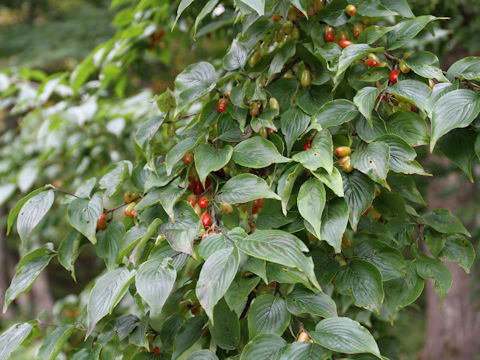
[[[448,166],[448,160],[437,162]],[[452,195],[439,197],[444,189],[456,187]],[[475,200],[475,186],[466,183],[457,173],[434,177],[429,184],[427,202],[430,209],[445,208],[452,213]],[[473,224],[470,224],[473,225]],[[422,360],[474,360],[480,356],[480,301],[472,300],[475,274],[467,275],[454,263],[445,263],[453,276],[453,285],[440,305],[440,297],[433,289],[433,280],[426,283],[427,328]]]

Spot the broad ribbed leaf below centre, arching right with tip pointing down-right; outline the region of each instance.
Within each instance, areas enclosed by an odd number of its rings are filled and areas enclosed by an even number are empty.
[[[308,248],[296,236],[281,230],[256,230],[238,241],[247,255],[303,271],[313,285],[319,287],[313,272],[313,262],[303,252]]]

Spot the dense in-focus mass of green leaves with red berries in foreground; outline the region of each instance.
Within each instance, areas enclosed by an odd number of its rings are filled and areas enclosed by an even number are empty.
[[[124,24],[134,27],[150,3]],[[181,22],[192,3],[181,1],[175,19],[168,6],[158,16]],[[473,262],[468,231],[446,210],[423,213],[412,175],[428,175],[415,160],[428,146],[472,177],[480,59],[443,72],[432,53],[406,54],[437,19],[415,17],[405,1],[210,0],[200,8],[196,35],[212,13],[208,31],[231,24],[222,13],[233,17],[228,52],[188,66],[174,91],[156,97],[160,112],[135,135],[135,165],[112,164],[66,199],[73,230],[57,250],[46,244],[22,258],[5,308],[54,257],[74,276],[80,247],[91,246],[106,270],[84,290],[78,319],[44,340],[42,358],[55,358],[75,329],[86,340],[71,359],[382,358],[391,349],[380,351],[381,335],[367,327],[394,321],[425,279],[445,297],[452,277],[441,259],[467,272]],[[142,26],[129,39],[152,34]],[[354,44],[342,49],[340,34]],[[108,60],[106,51],[77,69],[74,91]],[[352,149],[353,169],[339,165],[340,146]],[[125,183],[140,194],[126,201],[135,203],[128,217],[116,212],[121,205],[105,206]],[[24,197],[8,230],[16,219],[25,242],[55,190]],[[192,191],[209,200],[203,210]],[[2,334],[0,359],[37,325]]]

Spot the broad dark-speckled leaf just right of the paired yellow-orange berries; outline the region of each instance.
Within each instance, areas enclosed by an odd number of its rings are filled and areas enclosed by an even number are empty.
[[[355,169],[360,170],[370,179],[382,184],[387,189],[388,162],[390,158],[390,149],[383,142],[373,142],[362,150],[352,153],[351,160]]]

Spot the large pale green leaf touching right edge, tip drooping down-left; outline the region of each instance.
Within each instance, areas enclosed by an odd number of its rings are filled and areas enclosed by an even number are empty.
[[[480,94],[473,90],[453,90],[437,100],[432,112],[430,151],[438,139],[455,128],[464,128],[480,114]]]

